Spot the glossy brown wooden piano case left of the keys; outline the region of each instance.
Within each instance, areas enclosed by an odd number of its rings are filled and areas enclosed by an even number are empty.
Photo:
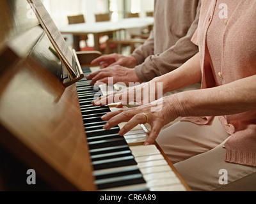
[[[95,191],[76,86],[28,2],[0,10],[0,190]]]

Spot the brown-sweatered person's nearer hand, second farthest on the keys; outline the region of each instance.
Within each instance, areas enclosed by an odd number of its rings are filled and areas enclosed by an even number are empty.
[[[125,68],[123,66],[115,65],[109,68],[100,69],[95,73],[88,75],[87,80],[92,80],[91,85],[99,84],[116,84],[122,82],[129,86],[129,82],[140,82],[140,79],[135,73],[135,69]],[[109,81],[109,78],[111,80]]]

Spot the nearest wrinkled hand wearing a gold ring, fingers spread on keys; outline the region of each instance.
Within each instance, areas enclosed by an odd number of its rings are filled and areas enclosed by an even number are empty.
[[[152,112],[152,109],[159,106],[159,104],[161,104],[161,110],[159,112]],[[151,126],[151,131],[144,145],[152,145],[163,126],[179,117],[179,112],[177,111],[177,107],[179,106],[175,106],[176,104],[177,101],[175,97],[172,96],[154,101],[148,105],[138,106],[137,108],[127,108],[116,112],[109,112],[102,117],[102,120],[108,120],[104,129],[108,130],[121,122],[128,121],[119,132],[120,136],[124,136],[138,124],[145,124],[147,122]],[[147,114],[147,116],[144,113]]]

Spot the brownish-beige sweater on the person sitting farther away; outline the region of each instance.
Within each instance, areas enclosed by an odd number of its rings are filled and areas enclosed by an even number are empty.
[[[191,42],[198,25],[201,0],[155,0],[154,29],[144,45],[133,52],[136,75],[147,82],[164,75],[198,52]]]

